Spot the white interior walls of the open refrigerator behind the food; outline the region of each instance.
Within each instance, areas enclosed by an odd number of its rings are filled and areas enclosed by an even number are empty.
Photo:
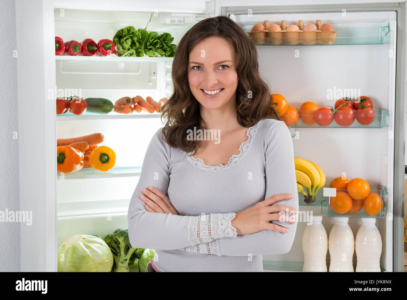
[[[244,10],[243,10],[244,11]],[[334,29],[389,26],[390,42],[385,44],[348,45],[258,45],[259,68],[272,93],[282,94],[289,105],[300,108],[305,101],[319,107],[333,106],[336,99],[328,100],[328,89],[359,89],[367,95],[374,108],[389,110],[388,127],[383,128],[297,128],[293,137],[294,155],[317,163],[326,174],[326,187],[335,177],[360,177],[372,185],[383,185],[388,190],[387,214],[392,212],[394,163],[394,105],[396,60],[396,13],[348,12],[235,14],[235,21],[246,31],[256,23],[269,20],[280,24],[322,23]],[[144,28],[147,31],[168,32],[178,44],[193,22],[163,24],[168,14],[131,11],[89,11],[55,9],[55,35],[81,42],[92,38],[112,39],[124,26]],[[393,55],[390,57],[389,53]],[[82,98],[102,97],[116,101],[123,96],[151,96],[153,99],[169,97],[172,92],[171,60],[145,60],[108,57],[56,57],[57,88],[80,89]],[[103,61],[105,59],[105,61]],[[145,116],[145,117],[140,117]],[[138,117],[57,117],[57,138],[77,137],[102,132],[101,145],[116,152],[117,172],[108,174],[57,176],[57,246],[75,234],[105,234],[117,228],[127,228],[127,208],[136,187],[144,153],[154,132],[162,127],[158,113],[140,113]],[[303,204],[302,196],[299,196]],[[319,206],[300,206],[301,211],[320,213]],[[333,217],[323,216],[327,234],[334,224]],[[360,218],[349,218],[354,236],[361,225]],[[298,266],[303,262],[302,233],[306,226],[300,222],[291,251],[287,254],[264,255],[265,262],[273,262],[276,269]],[[387,217],[377,218],[383,247],[381,268],[392,270],[392,222]],[[356,265],[356,254],[353,258]],[[329,263],[329,252],[327,255]],[[297,265],[295,265],[297,264]]]

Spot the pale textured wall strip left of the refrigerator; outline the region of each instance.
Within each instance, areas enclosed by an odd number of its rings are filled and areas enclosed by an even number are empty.
[[[0,5],[0,210],[19,208],[15,0]],[[15,136],[15,135],[14,135]],[[18,137],[18,136],[17,136]],[[0,271],[20,271],[20,224],[0,223]]]

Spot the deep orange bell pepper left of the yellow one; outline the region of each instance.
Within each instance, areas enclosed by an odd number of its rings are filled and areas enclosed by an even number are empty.
[[[83,152],[71,146],[57,147],[58,172],[71,173],[83,168]]]

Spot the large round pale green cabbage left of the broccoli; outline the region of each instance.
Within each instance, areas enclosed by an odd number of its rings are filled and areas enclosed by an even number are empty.
[[[110,272],[113,255],[104,240],[77,234],[58,249],[58,272]]]

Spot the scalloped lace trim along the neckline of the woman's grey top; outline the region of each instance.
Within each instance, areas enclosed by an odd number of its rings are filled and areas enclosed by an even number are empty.
[[[261,121],[261,120],[260,120]],[[204,160],[201,158],[195,158],[192,156],[193,151],[187,153],[187,160],[190,161],[195,167],[204,170],[204,171],[212,171],[216,172],[219,170],[226,170],[233,165],[236,165],[243,157],[245,157],[247,151],[249,150],[250,146],[252,145],[253,139],[256,135],[256,132],[258,130],[258,126],[260,124],[260,121],[258,121],[256,124],[254,124],[252,127],[249,127],[247,129],[246,135],[249,137],[247,141],[244,141],[241,143],[239,147],[239,154],[233,154],[232,157],[229,159],[229,162],[227,165],[222,165],[219,163],[219,165],[205,165]]]

